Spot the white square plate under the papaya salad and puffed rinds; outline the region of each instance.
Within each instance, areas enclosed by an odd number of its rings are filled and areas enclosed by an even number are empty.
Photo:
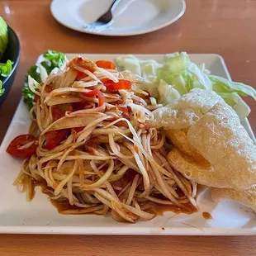
[[[75,55],[68,55],[71,59]],[[82,55],[89,59],[109,59],[116,55]],[[138,55],[141,59],[160,60],[163,55]],[[212,73],[230,78],[223,59],[219,55],[191,55],[197,64],[205,63]],[[153,220],[135,224],[119,223],[111,216],[59,215],[45,194],[36,190],[33,201],[12,186],[21,168],[21,161],[13,159],[5,150],[10,141],[26,134],[30,121],[26,106],[20,102],[0,148],[0,233],[22,234],[87,234],[87,235],[256,235],[256,215],[249,208],[235,201],[211,201],[206,190],[198,197],[201,211],[192,215],[174,216],[166,212]],[[249,122],[244,122],[249,135],[254,133]],[[255,139],[254,139],[255,142]],[[209,212],[213,219],[205,220],[202,212]]]

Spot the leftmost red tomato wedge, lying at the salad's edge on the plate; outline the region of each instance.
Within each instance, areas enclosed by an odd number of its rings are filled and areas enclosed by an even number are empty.
[[[21,146],[27,145],[28,143],[33,144],[29,145],[26,149],[19,149]],[[17,136],[10,145],[7,147],[7,153],[12,154],[12,156],[26,159],[29,158],[32,154],[36,152],[36,137],[33,135],[19,135]]]

